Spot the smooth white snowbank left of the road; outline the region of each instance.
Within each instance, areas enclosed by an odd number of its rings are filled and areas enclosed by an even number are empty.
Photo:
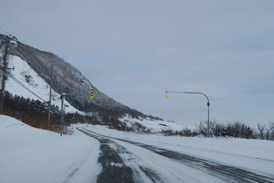
[[[96,182],[99,142],[30,127],[0,115],[0,182]]]

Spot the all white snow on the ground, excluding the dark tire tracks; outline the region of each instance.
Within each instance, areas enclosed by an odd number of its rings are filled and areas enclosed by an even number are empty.
[[[104,136],[145,143],[261,175],[274,175],[273,141],[160,136],[119,132],[100,125],[77,126]],[[140,180],[145,182],[151,180],[140,166],[158,173],[164,182],[223,182],[148,149],[110,139],[125,148],[117,149],[121,151],[119,156],[127,166],[138,171]],[[99,142],[78,130],[71,136],[60,137],[55,132],[36,129],[0,115],[0,149],[0,182],[96,182],[101,172]]]

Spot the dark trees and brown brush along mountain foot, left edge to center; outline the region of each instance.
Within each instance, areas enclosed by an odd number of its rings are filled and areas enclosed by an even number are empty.
[[[108,125],[112,129],[128,132],[151,132],[147,127],[140,123],[136,122],[129,126],[126,123],[119,121],[119,117],[125,114],[124,112],[105,110],[98,106],[93,106],[93,110],[95,112],[92,115],[83,115],[77,112],[66,113],[64,116],[63,130],[69,132],[68,126],[72,123],[89,123],[92,125]],[[5,91],[3,112],[10,117],[23,121],[27,125],[31,125],[32,127],[60,132],[60,108],[51,105],[51,125],[50,129],[48,129],[48,103],[45,101],[29,98],[25,99],[24,97],[12,95],[8,91]],[[131,114],[131,116],[138,118],[138,116],[134,116],[134,113]]]

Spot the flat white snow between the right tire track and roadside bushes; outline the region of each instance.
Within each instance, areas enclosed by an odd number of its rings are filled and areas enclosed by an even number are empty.
[[[274,175],[274,141],[137,134],[110,130],[108,127],[101,125],[89,125],[86,129],[105,136],[124,138],[129,141],[154,145],[182,154],[221,162],[225,165],[240,167],[262,175]]]

